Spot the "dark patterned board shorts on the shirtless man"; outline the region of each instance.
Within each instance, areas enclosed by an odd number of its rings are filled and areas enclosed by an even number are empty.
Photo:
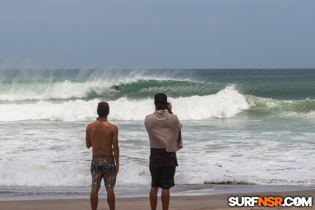
[[[93,155],[91,162],[92,187],[100,187],[102,178],[106,189],[116,184],[116,167],[114,155]]]

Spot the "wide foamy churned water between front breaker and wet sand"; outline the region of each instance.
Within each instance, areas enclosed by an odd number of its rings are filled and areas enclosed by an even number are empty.
[[[213,119],[208,126],[182,122],[184,148],[177,152],[176,184],[315,184],[312,130],[229,120]],[[117,186],[149,185],[150,149],[143,122],[117,123]],[[92,150],[84,139],[88,122],[1,124],[0,186],[90,186]]]

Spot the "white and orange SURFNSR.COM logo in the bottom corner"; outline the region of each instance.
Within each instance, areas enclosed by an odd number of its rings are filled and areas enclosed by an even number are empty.
[[[312,206],[312,197],[230,197],[230,206]]]

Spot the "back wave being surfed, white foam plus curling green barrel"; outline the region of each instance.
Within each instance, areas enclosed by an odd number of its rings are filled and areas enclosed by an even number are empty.
[[[115,85],[120,85],[115,92]],[[176,80],[138,80],[136,82],[114,83],[106,81],[68,81],[68,80],[11,80],[0,83],[1,101],[23,101],[44,99],[103,98],[116,100],[153,98],[158,92],[169,97],[205,96],[223,90],[225,85]]]

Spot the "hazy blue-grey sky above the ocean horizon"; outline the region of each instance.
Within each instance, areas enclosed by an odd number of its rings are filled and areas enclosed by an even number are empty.
[[[314,0],[0,0],[0,69],[315,68]]]

